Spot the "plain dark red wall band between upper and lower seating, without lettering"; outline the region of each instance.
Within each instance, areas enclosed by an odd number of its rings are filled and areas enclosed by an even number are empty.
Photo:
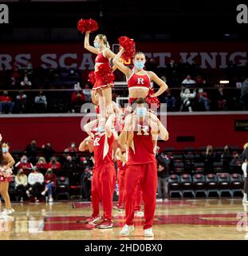
[[[235,131],[235,119],[248,120],[248,114],[223,115],[169,115],[167,130],[170,139],[159,146],[230,146],[242,147],[248,142],[248,131]],[[85,138],[81,130],[81,117],[56,118],[0,118],[0,133],[10,142],[12,150],[23,150],[32,139],[37,146],[50,142],[54,150],[62,151],[70,142],[77,145]],[[195,142],[176,142],[177,136],[195,136]]]

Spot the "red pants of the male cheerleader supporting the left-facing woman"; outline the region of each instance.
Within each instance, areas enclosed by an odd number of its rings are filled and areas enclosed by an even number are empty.
[[[96,166],[95,182],[98,198],[100,199],[104,210],[104,219],[112,220],[112,197],[116,185],[116,170],[112,162],[101,166]],[[98,209],[96,206],[96,201],[97,195],[95,194],[93,214],[99,214],[99,201]],[[96,213],[94,213],[94,210],[96,210]]]

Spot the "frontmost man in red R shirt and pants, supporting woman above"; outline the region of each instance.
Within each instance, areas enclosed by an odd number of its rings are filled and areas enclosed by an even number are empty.
[[[125,212],[126,224],[120,235],[129,235],[133,230],[137,184],[140,183],[144,199],[144,236],[152,237],[152,222],[155,213],[157,190],[157,166],[153,150],[152,134],[159,134],[163,140],[168,139],[166,128],[159,119],[157,128],[150,124],[151,113],[147,109],[144,98],[136,101],[136,110],[131,119],[125,120],[124,130],[120,134],[119,143],[127,146],[128,163],[125,174]]]

